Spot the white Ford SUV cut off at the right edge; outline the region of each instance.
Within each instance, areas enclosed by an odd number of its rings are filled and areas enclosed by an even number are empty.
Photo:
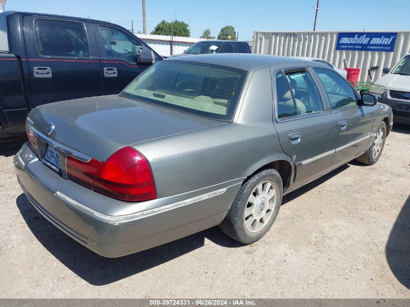
[[[378,101],[392,107],[394,122],[410,124],[410,54],[404,56],[393,69],[384,68],[386,75],[370,87]],[[383,89],[384,87],[384,89]]]

